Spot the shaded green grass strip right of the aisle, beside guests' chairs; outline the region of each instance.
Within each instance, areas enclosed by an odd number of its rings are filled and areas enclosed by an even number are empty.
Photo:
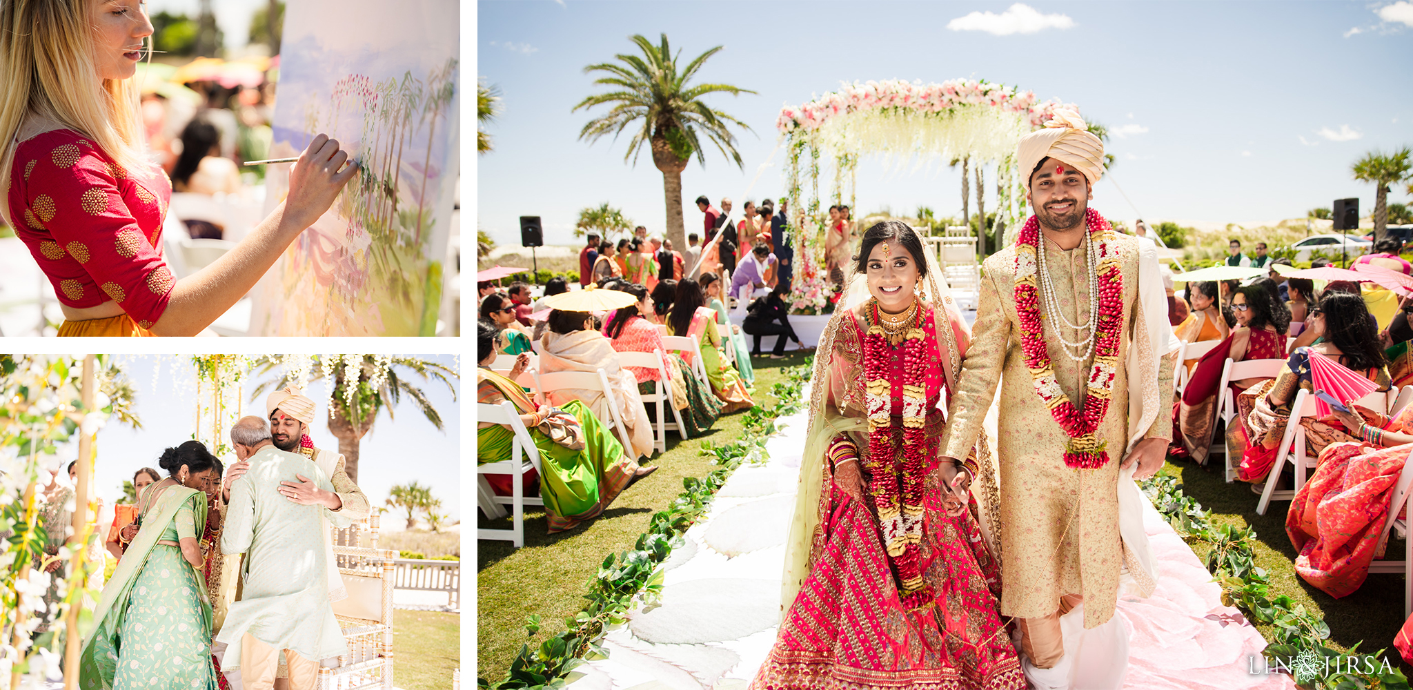
[[[1289,595],[1296,604],[1304,604],[1307,611],[1324,616],[1330,625],[1331,646],[1348,650],[1358,642],[1361,653],[1372,653],[1388,648],[1389,663],[1400,665],[1405,674],[1413,673],[1413,666],[1403,663],[1393,649],[1393,636],[1403,625],[1403,575],[1396,573],[1375,573],[1364,581],[1354,594],[1337,600],[1314,588],[1300,578],[1294,570],[1296,549],[1286,536],[1286,512],[1289,501],[1272,501],[1266,515],[1256,515],[1260,499],[1245,482],[1226,484],[1222,478],[1222,458],[1217,455],[1207,468],[1193,462],[1169,461],[1160,474],[1177,476],[1183,492],[1197,499],[1202,508],[1212,512],[1212,525],[1236,525],[1256,530],[1256,566],[1270,574],[1270,595]],[[1207,557],[1211,546],[1190,540],[1200,560]],[[1386,556],[1403,559],[1403,540],[1389,537]],[[1256,626],[1269,641],[1269,625]]]

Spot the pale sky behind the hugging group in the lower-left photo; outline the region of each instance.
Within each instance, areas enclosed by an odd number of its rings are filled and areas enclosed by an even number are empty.
[[[459,370],[456,358],[452,355],[415,356],[437,361]],[[123,481],[131,481],[138,468],[155,468],[157,458],[164,448],[191,438],[195,430],[196,410],[196,376],[189,356],[117,355],[116,358],[127,369],[127,376],[137,390],[137,416],[143,421],[143,428],[134,430],[112,420],[97,434],[95,486],[109,503],[122,496],[119,489]],[[256,403],[249,402],[250,390],[260,380],[264,378],[256,379],[256,383],[246,387],[242,411],[263,417],[266,414],[264,396]],[[382,506],[387,499],[389,488],[394,484],[418,481],[432,488],[432,495],[442,501],[442,510],[454,519],[461,519],[459,403],[439,382],[424,383],[415,373],[411,375],[410,380],[427,393],[432,406],[441,413],[445,431],[438,431],[404,396],[401,404],[393,410],[396,420],[389,419],[387,411],[383,411],[374,421],[373,430],[359,444],[359,488],[367,493],[374,506]],[[326,393],[322,380],[311,383],[307,393],[318,403],[319,420],[311,430],[314,445],[336,451],[338,438],[328,431],[322,421],[328,414],[324,404]],[[58,457],[66,465],[78,457],[76,444],[71,444]],[[226,460],[222,458],[222,461]]]

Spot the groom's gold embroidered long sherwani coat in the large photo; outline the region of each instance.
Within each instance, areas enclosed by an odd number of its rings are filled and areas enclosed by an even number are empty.
[[[965,368],[952,396],[941,454],[964,458],[971,451],[1000,383],[996,458],[1000,474],[1002,513],[1002,601],[1007,616],[1037,618],[1054,612],[1060,597],[1084,595],[1084,625],[1094,628],[1113,615],[1121,567],[1132,554],[1119,539],[1118,474],[1129,440],[1129,394],[1142,387],[1173,390],[1173,362],[1164,356],[1157,380],[1128,380],[1123,366],[1145,328],[1139,307],[1139,245],[1126,235],[1112,233],[1111,246],[1123,271],[1123,322],[1119,338],[1116,379],[1109,410],[1098,437],[1106,443],[1109,461],[1098,469],[1071,469],[1064,464],[1067,435],[1036,393],[1020,345],[1016,312],[1016,249],[1006,247],[985,262],[976,324]],[[1064,317],[1085,324],[1089,317],[1088,255],[1081,243],[1064,252],[1046,245],[1046,263]],[[1044,287],[1040,286],[1043,290]],[[1061,349],[1054,325],[1044,322],[1056,380],[1075,406],[1084,406],[1085,379],[1094,358],[1071,361]],[[1065,328],[1065,339],[1080,334]],[[1147,338],[1143,338],[1145,345]],[[1170,438],[1173,420],[1159,414],[1147,438]],[[1143,577],[1139,574],[1139,577]]]

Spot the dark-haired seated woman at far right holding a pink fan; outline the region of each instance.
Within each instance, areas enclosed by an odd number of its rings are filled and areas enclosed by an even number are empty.
[[[1310,311],[1307,331],[1316,335],[1314,345],[1296,348],[1276,379],[1267,379],[1236,396],[1236,417],[1245,424],[1228,434],[1232,452],[1243,448],[1236,476],[1243,482],[1265,482],[1276,462],[1277,445],[1286,434],[1300,389],[1314,390],[1310,355],[1321,353],[1372,380],[1378,390],[1389,389],[1389,370],[1379,344],[1373,320],[1358,294],[1325,290],[1320,305]],[[1234,424],[1235,426],[1235,424]],[[1332,443],[1354,441],[1351,431],[1334,417],[1301,417],[1306,430],[1306,452],[1320,455]]]

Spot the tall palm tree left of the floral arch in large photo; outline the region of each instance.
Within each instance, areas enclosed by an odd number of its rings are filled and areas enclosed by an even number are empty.
[[[667,205],[667,236],[673,246],[685,247],[685,228],[682,225],[682,170],[692,154],[697,163],[706,165],[706,156],[698,140],[698,130],[716,144],[716,148],[728,158],[742,167],[740,153],[736,151],[736,137],[732,136],[728,124],[736,124],[750,130],[746,123],[721,112],[714,110],[701,100],[702,96],[715,92],[732,95],[755,93],[749,89],[731,86],[728,83],[698,83],[690,86],[688,82],[697,75],[706,58],[721,51],[721,45],[701,54],[691,61],[681,72],[677,69],[677,58],[667,45],[667,34],[663,34],[661,45],[653,45],[642,35],[629,37],[643,51],[637,55],[615,55],[623,64],[602,62],[584,68],[589,72],[608,72],[609,76],[595,79],[593,83],[615,86],[619,90],[598,93],[584,99],[574,110],[588,109],[596,105],[612,103],[613,109],[602,117],[589,120],[579,130],[579,139],[596,141],[603,134],[612,133],[615,139],[623,130],[633,127],[637,131],[629,141],[629,158],[637,163],[637,154],[646,144],[653,151],[653,164],[663,172],[663,197]]]

